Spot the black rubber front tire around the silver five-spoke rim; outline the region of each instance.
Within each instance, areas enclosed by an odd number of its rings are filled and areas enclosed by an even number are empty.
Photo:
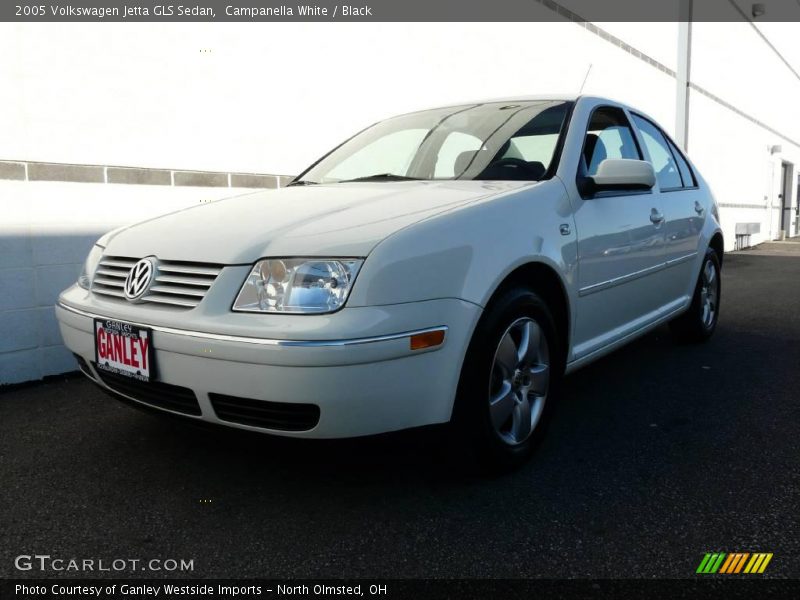
[[[511,443],[498,432],[493,423],[489,405],[490,387],[493,377],[497,378],[495,360],[496,354],[500,352],[498,347],[509,334],[509,327],[517,326],[518,323],[522,323],[521,327],[525,327],[531,320],[538,325],[540,333],[546,339],[549,354],[549,385],[543,399],[543,407],[537,410],[538,421],[529,436],[519,443]],[[512,287],[501,292],[500,296],[492,301],[472,337],[458,385],[453,425],[457,434],[460,457],[469,456],[482,471],[488,470],[494,473],[517,468],[528,460],[542,440],[557,401],[564,374],[563,347],[550,309],[535,292],[524,287]],[[517,371],[517,373],[522,372]],[[528,381],[530,382],[530,378]],[[529,383],[529,387],[524,389],[533,390],[533,384]],[[523,396],[527,402],[529,397],[536,397],[536,394],[533,391],[526,391],[524,394],[520,393],[517,398]],[[531,401],[531,405],[535,402],[537,400]],[[517,403],[517,406],[521,404],[518,400]],[[516,411],[516,407],[514,410]],[[515,413],[510,415],[509,419],[516,417]]]

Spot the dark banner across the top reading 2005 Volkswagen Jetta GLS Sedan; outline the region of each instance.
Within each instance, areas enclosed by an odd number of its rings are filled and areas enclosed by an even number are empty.
[[[10,22],[800,21],[797,0],[4,0]]]

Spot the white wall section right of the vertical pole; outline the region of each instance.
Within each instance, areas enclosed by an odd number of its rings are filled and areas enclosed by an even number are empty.
[[[719,0],[716,0],[719,1]],[[791,61],[797,52],[798,23],[759,25]],[[787,41],[793,39],[794,43]],[[695,23],[692,26],[692,80],[740,110],[800,141],[800,79],[775,55],[749,23]],[[790,49],[794,48],[794,51]],[[800,64],[794,62],[795,71]],[[782,152],[772,154],[773,146]],[[759,222],[752,243],[780,233],[781,162],[796,166],[791,185],[797,206],[800,146],[759,127],[710,99],[692,93],[689,154],[711,182],[721,209],[726,248],[732,249],[737,222]],[[750,204],[752,208],[725,206]],[[792,213],[790,232],[796,217]]]

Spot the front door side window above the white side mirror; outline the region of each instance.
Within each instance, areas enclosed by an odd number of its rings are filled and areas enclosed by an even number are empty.
[[[597,167],[607,158],[642,158],[625,113],[610,106],[595,110],[589,121],[583,142],[586,174],[595,175]]]

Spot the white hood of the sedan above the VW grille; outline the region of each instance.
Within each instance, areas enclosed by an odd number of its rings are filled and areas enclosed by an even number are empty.
[[[402,181],[292,186],[202,204],[125,227],[106,254],[221,264],[265,256],[363,257],[395,231],[530,186]]]

